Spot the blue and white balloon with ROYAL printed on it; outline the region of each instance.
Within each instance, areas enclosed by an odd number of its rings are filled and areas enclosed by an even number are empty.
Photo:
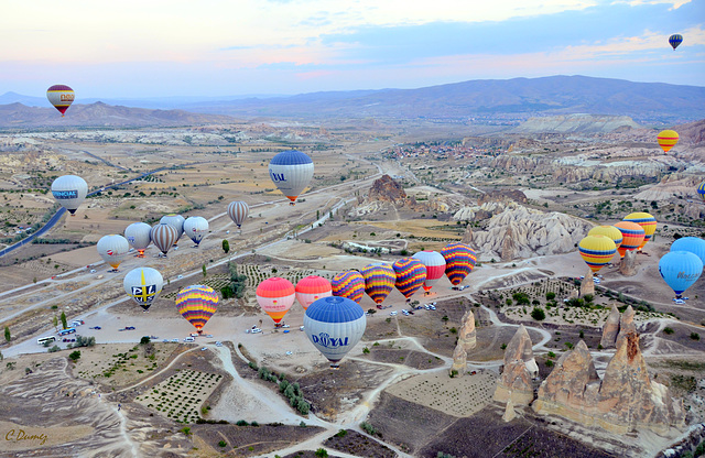
[[[304,331],[332,369],[360,341],[366,327],[362,308],[347,297],[319,298],[304,314]]]

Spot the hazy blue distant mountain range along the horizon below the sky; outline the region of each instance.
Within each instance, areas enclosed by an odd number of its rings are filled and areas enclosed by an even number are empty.
[[[78,92],[79,95],[80,92]],[[91,100],[77,99],[78,103]],[[302,94],[296,96],[155,98],[134,100],[105,99],[105,102],[135,108],[181,109],[191,113],[226,115],[238,118],[307,118],[307,119],[425,119],[431,121],[460,120],[485,122],[506,120],[518,123],[530,117],[590,113],[627,116],[647,124],[675,124],[705,118],[705,87],[679,86],[661,83],[632,83],[622,79],[586,76],[550,76],[543,78],[514,78],[508,80],[470,80],[419,89],[350,90]],[[43,98],[7,92],[0,103],[20,102],[47,106]],[[78,106],[79,107],[79,106]],[[63,124],[73,123],[79,115],[72,107]],[[91,106],[89,106],[91,107]],[[101,105],[101,115],[108,116],[109,106]],[[15,107],[17,108],[17,107]],[[25,107],[26,108],[26,107]],[[97,126],[127,126],[122,119],[124,107],[112,107],[123,112],[95,118]],[[88,110],[85,108],[84,110]],[[36,126],[40,119],[21,120],[29,112],[14,115],[14,126]],[[0,126],[8,127],[7,107],[0,107]],[[97,113],[96,113],[97,115]],[[181,122],[185,113],[145,112],[135,115],[138,126],[145,122]],[[194,115],[195,117],[195,115]],[[196,117],[197,118],[197,117]],[[200,118],[197,118],[200,119]],[[208,119],[208,118],[203,118]],[[223,121],[226,122],[226,118]],[[90,122],[90,120],[86,120]],[[212,122],[212,121],[205,121]],[[82,121],[82,126],[84,124]]]

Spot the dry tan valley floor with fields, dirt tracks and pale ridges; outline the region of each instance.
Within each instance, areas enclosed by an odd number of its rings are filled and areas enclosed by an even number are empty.
[[[468,137],[452,127],[368,120],[0,133],[0,248],[54,214],[47,189],[56,176],[77,174],[100,190],[41,242],[0,258],[0,326],[9,334],[0,345],[0,457],[313,457],[324,449],[337,457],[601,458],[694,450],[705,422],[705,280],[679,305],[658,265],[675,238],[705,238],[696,193],[703,122],[684,128],[668,155],[653,142],[655,131],[638,126],[579,134],[541,129],[532,121]],[[289,149],[315,164],[295,206],[268,176],[271,157]],[[232,200],[250,207],[241,231],[226,211]],[[594,292],[582,294],[592,280],[584,279],[589,270],[577,243],[593,226],[632,211],[659,221],[633,274],[620,273],[616,257]],[[145,258],[131,253],[109,272],[96,250],[102,236],[173,212],[208,220],[198,247],[182,237],[163,258],[150,246]],[[365,335],[338,370],[300,330],[299,303],[285,316],[290,327],[274,328],[256,299],[270,276],[333,279],[454,241],[477,252],[466,287],[444,276],[411,302],[393,291],[383,309],[366,295]],[[137,266],[164,277],[149,312],[123,290]],[[194,328],[178,315],[176,293],[192,284],[220,292],[231,272],[247,277],[243,296],[220,298],[203,335],[185,342]],[[435,309],[422,307],[432,302]],[[519,325],[533,344],[536,383],[581,340],[603,375],[615,355],[600,345],[612,305],[634,308],[648,375],[683,400],[685,424],[617,434],[521,405],[506,422],[506,403],[494,393]],[[401,312],[415,306],[413,315]],[[536,308],[544,318],[535,318]],[[453,373],[468,310],[477,345],[466,352],[467,370]],[[95,346],[57,341],[50,352],[37,345],[57,334],[62,313],[69,323],[83,319],[76,334]],[[246,332],[253,326],[262,332]],[[284,395],[294,384],[306,413]]]

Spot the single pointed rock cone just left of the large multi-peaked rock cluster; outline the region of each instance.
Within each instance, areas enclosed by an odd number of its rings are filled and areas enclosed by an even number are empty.
[[[495,401],[511,400],[516,405],[529,405],[533,401],[532,379],[539,374],[533,358],[531,338],[523,325],[505,349],[505,369],[495,390]]]

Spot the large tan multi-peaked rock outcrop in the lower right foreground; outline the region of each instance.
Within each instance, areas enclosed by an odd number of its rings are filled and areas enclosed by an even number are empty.
[[[601,380],[585,342],[563,355],[541,383],[533,410],[619,434],[636,427],[666,433],[685,424],[683,402],[651,380],[633,331],[618,339]]]

